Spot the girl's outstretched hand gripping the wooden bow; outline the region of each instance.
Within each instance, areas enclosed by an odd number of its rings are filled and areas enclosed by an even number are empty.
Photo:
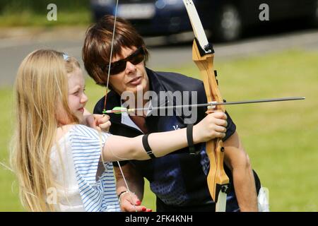
[[[226,121],[228,117],[224,112],[213,112],[202,119],[193,127],[194,143],[211,141],[214,138],[224,138],[226,132]]]

